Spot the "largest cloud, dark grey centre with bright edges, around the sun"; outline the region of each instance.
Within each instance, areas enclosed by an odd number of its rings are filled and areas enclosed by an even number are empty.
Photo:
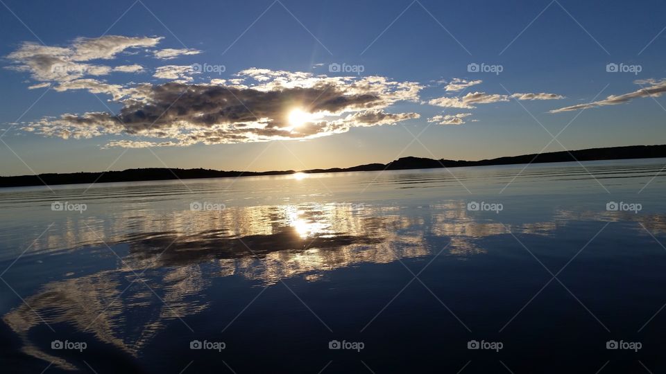
[[[187,76],[190,66],[161,68],[155,73],[157,78],[191,79]],[[266,69],[248,69],[237,73],[237,77],[234,82],[181,81],[136,87],[92,79],[74,80],[67,82],[74,87],[62,89],[111,94],[122,105],[119,114],[63,114],[59,118],[42,118],[23,129],[63,139],[137,136],[141,139],[112,140],[106,146],[140,148],[313,139],[347,132],[351,127],[389,125],[419,118],[416,113],[384,110],[400,101],[417,102],[421,86],[415,82],[397,82],[381,76],[327,77]],[[310,114],[309,120],[290,123],[289,112],[295,108]]]

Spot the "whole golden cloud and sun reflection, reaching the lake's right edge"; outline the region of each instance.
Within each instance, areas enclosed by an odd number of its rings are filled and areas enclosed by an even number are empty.
[[[305,184],[310,179],[295,175],[292,180]],[[557,208],[500,221],[470,213],[461,199],[432,199],[437,203],[422,206],[229,204],[223,211],[191,211],[189,198],[180,200],[180,208],[173,209],[131,202],[105,215],[61,216],[23,260],[76,263],[80,253],[114,256],[107,245],[121,260],[111,269],[78,276],[62,269],[64,276],[49,278],[56,281],[7,312],[3,321],[22,339],[22,351],[63,369],[76,368],[54,356],[49,341],[32,339],[48,323],[92,333],[97,341],[137,357],[174,321],[212,308],[217,278],[236,276],[255,287],[291,277],[317,282],[334,269],[424,258],[445,246],[441,256],[469,260],[488,252],[485,238],[509,232],[554,237],[580,221],[628,222],[636,230],[642,224],[655,235],[666,233],[666,217],[658,214]]]

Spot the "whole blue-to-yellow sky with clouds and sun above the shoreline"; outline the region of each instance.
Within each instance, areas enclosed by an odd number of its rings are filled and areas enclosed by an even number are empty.
[[[666,143],[663,1],[0,3],[0,175]]]

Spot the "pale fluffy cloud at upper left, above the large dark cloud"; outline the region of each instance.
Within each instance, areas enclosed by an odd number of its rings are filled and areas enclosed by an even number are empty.
[[[128,48],[152,47],[161,37],[125,37],[106,35],[97,38],[79,37],[69,46],[44,46],[24,42],[7,55],[9,69],[31,73],[40,82],[65,82],[84,75],[107,75],[110,66],[88,64],[90,60],[111,60]]]

